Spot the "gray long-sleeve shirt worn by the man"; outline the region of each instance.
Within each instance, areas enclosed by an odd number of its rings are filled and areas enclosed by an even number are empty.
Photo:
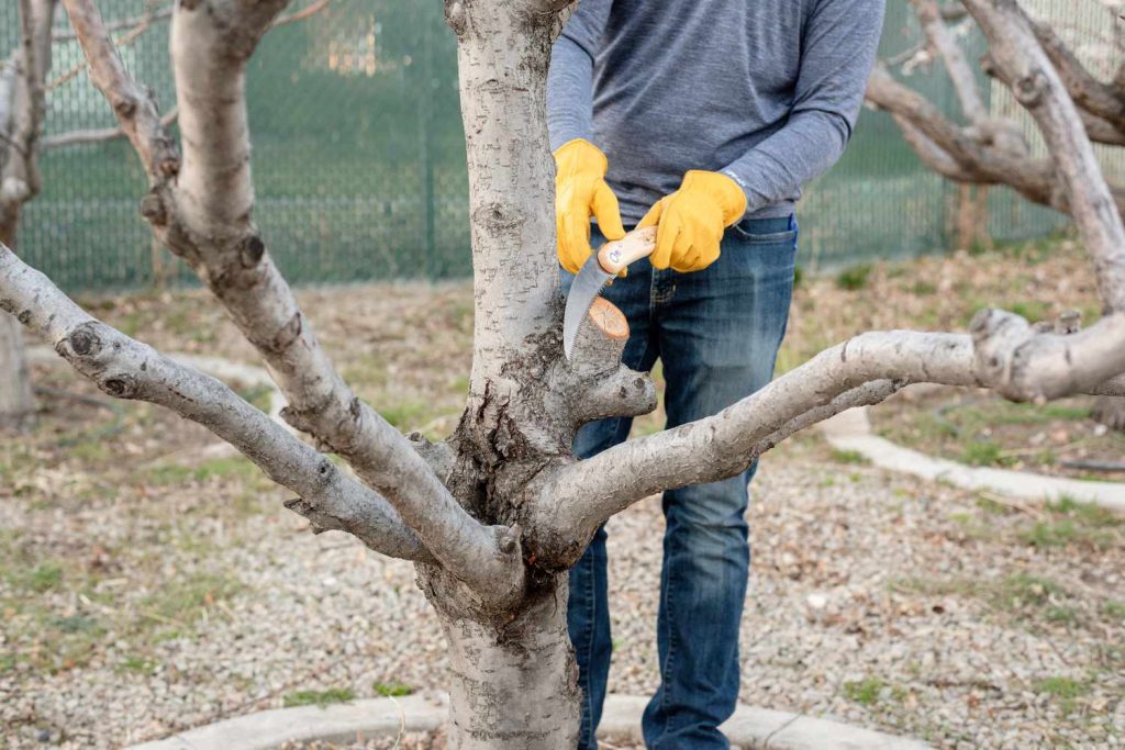
[[[786,216],[852,135],[884,0],[582,0],[555,44],[551,148],[609,157],[627,224],[687,170],[732,177],[747,215]]]

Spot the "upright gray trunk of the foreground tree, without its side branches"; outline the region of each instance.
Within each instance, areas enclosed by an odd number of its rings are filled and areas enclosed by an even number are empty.
[[[569,457],[580,401],[560,363],[546,82],[554,4],[448,0],[458,37],[476,323],[468,406],[447,485],[474,516],[520,528],[529,482]],[[618,360],[610,362],[618,367]],[[603,368],[604,371],[605,368]],[[522,600],[490,611],[448,572],[420,566],[449,640],[450,748],[558,750],[578,740],[580,689],[566,629],[567,573],[522,540]]]

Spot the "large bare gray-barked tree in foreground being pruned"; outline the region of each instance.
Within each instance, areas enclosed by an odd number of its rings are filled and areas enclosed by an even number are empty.
[[[450,746],[548,749],[577,739],[579,689],[566,632],[566,571],[595,530],[632,503],[735,476],[794,432],[911,382],[989,387],[1018,400],[1125,395],[1125,313],[1082,332],[1000,310],[972,334],[868,332],[818,354],[720,414],[576,461],[575,431],[655,407],[646,374],[620,362],[628,326],[611,305],[562,355],[555,259],[547,67],[567,0],[448,0],[459,45],[475,287],[466,408],[447,440],[403,436],[356,397],[254,226],[244,82],[285,0],[180,0],[171,56],[181,146],[118,57],[93,0],[63,0],[148,179],[141,209],[255,346],[288,399],[285,418],[354,477],[217,380],[93,319],[0,249],[0,308],[104,391],[165,406],[231,442],[297,495],[315,531],[353,534],[416,563],[449,641]],[[1125,295],[1125,229],[1107,210],[1079,114],[1010,0],[973,0],[996,61],[1026,90],[1059,192],[1107,300]],[[182,147],[182,152],[181,148]],[[1120,309],[1112,305],[1110,309]],[[377,406],[377,405],[376,405]]]

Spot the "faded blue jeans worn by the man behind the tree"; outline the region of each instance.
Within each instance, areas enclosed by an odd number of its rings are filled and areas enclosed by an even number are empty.
[[[604,237],[593,228],[597,247]],[[664,363],[668,426],[710,416],[765,386],[785,335],[793,290],[793,219],[746,219],[695,273],[634,263],[604,296],[629,318],[622,356],[634,370]],[[569,291],[572,277],[564,272]],[[624,441],[631,419],[585,425],[574,450],[588,458]],[[755,467],[723,481],[664,494],[664,568],[657,621],[660,687],[645,711],[649,748],[729,748],[718,726],[738,701],[738,631],[749,569],[747,485]],[[579,749],[596,749],[610,671],[605,530],[570,570],[567,613],[584,692]]]

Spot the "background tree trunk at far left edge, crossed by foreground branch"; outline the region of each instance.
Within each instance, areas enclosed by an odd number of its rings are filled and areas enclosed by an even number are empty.
[[[43,128],[43,88],[51,69],[55,0],[20,0],[20,44],[0,62],[0,243],[16,245],[24,204],[39,191],[35,155]],[[0,319],[0,427],[35,414],[35,394],[24,336],[10,317]]]

